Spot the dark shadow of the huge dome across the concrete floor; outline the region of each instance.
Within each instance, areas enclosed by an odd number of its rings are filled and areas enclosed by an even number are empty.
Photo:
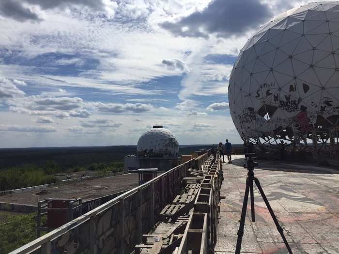
[[[337,168],[318,166],[315,164],[306,163],[284,163],[277,161],[255,160],[259,163],[257,169],[283,171],[283,172],[295,172],[295,173],[308,173],[308,174],[339,174]],[[245,158],[233,159],[232,164],[237,166],[243,166],[246,163]]]

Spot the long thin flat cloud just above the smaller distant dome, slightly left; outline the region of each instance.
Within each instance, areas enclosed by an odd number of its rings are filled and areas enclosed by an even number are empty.
[[[142,112],[150,111],[153,108],[152,105],[142,104],[142,103],[104,104],[101,102],[97,102],[97,103],[92,103],[92,105],[94,105],[99,112],[113,113],[113,114],[119,114],[123,112],[142,113]]]

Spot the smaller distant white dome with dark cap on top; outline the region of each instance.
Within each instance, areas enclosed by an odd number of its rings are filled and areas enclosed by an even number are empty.
[[[169,130],[154,126],[140,136],[137,151],[140,157],[177,159],[179,144]]]

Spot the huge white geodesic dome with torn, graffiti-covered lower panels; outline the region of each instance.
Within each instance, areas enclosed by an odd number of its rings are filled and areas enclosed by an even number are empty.
[[[281,139],[304,149],[311,147],[307,143],[318,151],[334,148],[339,2],[303,5],[263,25],[241,50],[228,93],[231,117],[245,141],[262,149]]]

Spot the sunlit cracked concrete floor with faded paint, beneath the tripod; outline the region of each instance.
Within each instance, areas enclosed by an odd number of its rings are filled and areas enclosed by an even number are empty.
[[[242,155],[223,164],[217,254],[234,253],[247,169]],[[339,254],[339,171],[304,164],[258,161],[254,170],[284,229],[293,254]],[[256,221],[248,198],[242,253],[287,254],[288,251],[254,187]]]

